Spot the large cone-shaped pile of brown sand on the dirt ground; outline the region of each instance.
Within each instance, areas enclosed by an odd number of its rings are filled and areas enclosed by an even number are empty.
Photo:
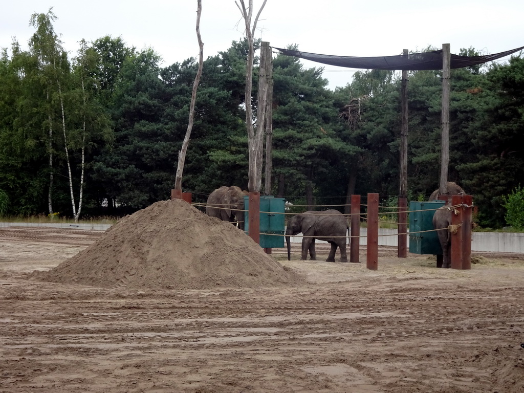
[[[258,288],[303,282],[243,231],[182,200],[157,202],[124,217],[82,252],[32,277],[104,288]]]

